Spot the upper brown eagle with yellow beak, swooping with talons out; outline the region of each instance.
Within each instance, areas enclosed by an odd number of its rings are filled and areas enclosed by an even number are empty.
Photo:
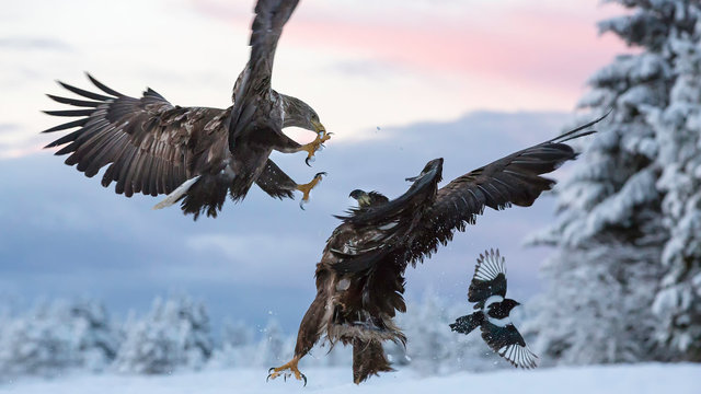
[[[101,93],[59,82],[80,100],[48,95],[80,109],[45,112],[77,118],[43,131],[77,128],[45,148],[67,144],[56,154],[70,154],[66,164],[77,164],[88,177],[110,164],[103,186],[116,182],[115,192],[127,197],[166,194],[154,208],[182,199],[183,212],[195,219],[200,213],[216,217],[227,194],[234,201],[243,199],[253,183],[276,198],[294,198],[294,192],[300,190],[302,202],[307,201],[324,173],[298,185],[268,159],[273,150],[306,151],[309,164],[330,138],[309,105],[271,86],[275,48],[298,1],[257,2],[251,57],[233,86],[232,106],[181,107],[151,89],[140,99],[129,97],[88,74]],[[291,126],[312,130],[317,138],[299,144],[281,131]]]

